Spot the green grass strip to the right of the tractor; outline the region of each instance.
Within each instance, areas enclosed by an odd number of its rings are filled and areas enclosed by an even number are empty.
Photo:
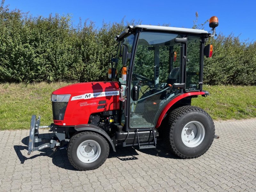
[[[198,96],[191,105],[207,111],[215,120],[256,117],[256,86],[204,85],[206,98]]]

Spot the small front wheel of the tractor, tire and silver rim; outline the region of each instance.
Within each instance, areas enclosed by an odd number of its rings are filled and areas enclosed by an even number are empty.
[[[68,143],[68,160],[80,171],[99,168],[108,158],[108,142],[95,132],[79,132]]]

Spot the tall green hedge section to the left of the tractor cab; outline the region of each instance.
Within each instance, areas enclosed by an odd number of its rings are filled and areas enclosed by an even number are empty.
[[[115,54],[114,36],[120,23],[81,22],[56,14],[32,17],[20,10],[0,7],[0,82],[105,80],[108,55]]]

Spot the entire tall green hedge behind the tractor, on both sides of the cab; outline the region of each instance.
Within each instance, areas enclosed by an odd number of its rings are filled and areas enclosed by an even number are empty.
[[[134,24],[123,19],[103,22],[97,28],[87,20],[74,26],[69,15],[33,17],[3,5],[4,1],[0,7],[0,82],[106,80],[108,55],[115,55],[117,49],[114,37]],[[211,39],[214,53],[205,59],[204,82],[255,85],[256,43],[244,43],[232,35]]]

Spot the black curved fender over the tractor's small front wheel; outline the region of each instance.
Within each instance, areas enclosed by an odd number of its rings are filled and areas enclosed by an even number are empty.
[[[80,131],[93,131],[93,132],[99,133],[100,135],[102,135],[103,137],[105,137],[109,141],[109,143],[112,145],[113,151],[116,152],[116,148],[115,148],[115,145],[114,145],[112,139],[109,137],[108,133],[106,133],[100,127],[97,127],[95,125],[90,125],[90,124],[81,124],[81,125],[76,125],[75,126],[75,130],[77,132],[80,132]]]

